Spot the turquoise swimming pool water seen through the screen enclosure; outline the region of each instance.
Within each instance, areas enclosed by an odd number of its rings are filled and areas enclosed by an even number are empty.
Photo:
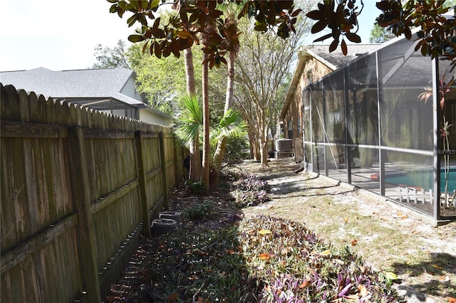
[[[373,174],[371,179],[379,181],[378,174]],[[387,171],[385,173],[385,183],[398,186],[409,186],[415,188],[433,188],[434,174],[432,169],[414,169],[410,171]],[[450,168],[448,177],[448,192],[452,193],[456,189],[456,167]],[[445,191],[445,175],[440,171],[440,192]]]

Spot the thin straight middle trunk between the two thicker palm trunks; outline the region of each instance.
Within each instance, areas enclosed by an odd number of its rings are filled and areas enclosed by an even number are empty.
[[[209,191],[209,63],[207,62],[207,54],[203,55],[202,64],[202,125],[203,125],[203,147],[202,147],[202,171],[201,182],[204,188]]]

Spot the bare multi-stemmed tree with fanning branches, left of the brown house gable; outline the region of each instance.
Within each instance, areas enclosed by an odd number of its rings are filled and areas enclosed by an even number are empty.
[[[302,1],[301,5],[311,6],[312,3]],[[235,64],[239,87],[235,103],[249,124],[254,157],[261,161],[261,168],[268,165],[269,129],[275,124],[274,117],[283,104],[277,94],[285,85],[301,38],[310,29],[306,18],[299,18],[297,22],[296,34],[286,40],[254,32],[257,23],[239,23],[239,30],[250,34],[241,36],[242,48]]]

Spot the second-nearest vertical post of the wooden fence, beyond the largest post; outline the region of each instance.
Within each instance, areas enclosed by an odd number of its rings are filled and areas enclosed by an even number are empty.
[[[142,154],[142,132],[135,132],[136,156],[138,158],[138,179],[140,182],[141,214],[142,214],[142,232],[146,238],[150,239],[150,220],[149,209],[147,208],[147,193],[145,191],[145,169],[144,156]]]

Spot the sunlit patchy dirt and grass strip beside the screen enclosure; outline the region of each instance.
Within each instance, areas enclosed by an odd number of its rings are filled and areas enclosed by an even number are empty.
[[[271,159],[269,169],[244,161],[234,170],[262,176],[271,201],[245,208],[305,223],[333,245],[349,246],[375,270],[394,272],[408,302],[448,302],[456,297],[456,222],[434,227],[408,208],[353,186],[298,172],[293,158]]]

